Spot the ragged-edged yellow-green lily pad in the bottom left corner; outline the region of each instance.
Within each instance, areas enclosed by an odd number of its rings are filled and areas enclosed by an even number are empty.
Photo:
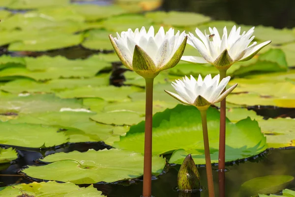
[[[33,182],[0,188],[0,196],[5,197],[104,197],[93,185],[79,187],[73,183]]]

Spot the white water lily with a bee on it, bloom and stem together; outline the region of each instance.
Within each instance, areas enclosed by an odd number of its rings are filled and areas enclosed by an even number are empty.
[[[209,28],[210,34],[214,34],[214,36],[207,35],[206,31],[204,34],[198,28],[196,28],[195,32],[199,38],[189,33],[187,43],[196,48],[202,57],[183,56],[181,60],[193,64],[211,64],[219,70],[221,80],[226,77],[227,69],[235,62],[243,62],[252,59],[262,48],[271,42],[268,40],[260,44],[257,44],[257,42],[250,44],[255,38],[255,36],[252,36],[254,27],[248,32],[240,34],[241,28],[238,27],[236,29],[236,26],[234,26],[229,35],[227,33],[227,28],[224,27],[222,36],[219,35],[215,27],[213,29]],[[212,37],[212,41],[210,41],[210,37]],[[225,109],[226,101],[224,99],[221,101],[220,105],[218,159],[218,169],[219,171],[223,171],[223,174],[225,170]],[[222,182],[224,183],[224,181]],[[224,185],[220,185],[220,187],[224,187]],[[224,194],[220,194],[220,197],[224,197]]]

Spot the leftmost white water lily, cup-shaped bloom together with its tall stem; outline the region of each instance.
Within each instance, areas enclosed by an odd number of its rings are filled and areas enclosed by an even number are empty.
[[[154,34],[151,26],[146,31],[143,27],[134,32],[117,33],[117,37],[109,35],[111,43],[122,64],[146,79],[146,126],[144,155],[143,197],[151,197],[151,154],[152,154],[152,96],[153,80],[160,71],[177,65],[183,55],[187,36],[174,29],[167,33],[161,27]]]

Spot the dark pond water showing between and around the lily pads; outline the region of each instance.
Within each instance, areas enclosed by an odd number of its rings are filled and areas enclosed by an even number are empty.
[[[79,3],[79,2],[77,2]],[[81,2],[80,2],[81,3]],[[107,0],[97,0],[97,4],[109,4]],[[238,24],[245,25],[265,25],[276,28],[292,28],[295,26],[295,1],[286,0],[164,0],[162,10],[191,11],[211,16],[216,20],[232,20]],[[12,53],[16,56],[40,56],[62,55],[69,59],[86,58],[91,54],[97,54],[100,51],[85,49],[81,46],[70,47],[62,50],[53,50],[42,53]],[[113,81],[120,79],[122,71],[113,71]],[[116,83],[114,83],[116,84]],[[253,107],[259,115],[266,118],[292,117],[295,118],[294,109]],[[29,183],[26,177],[20,175],[17,170],[25,165],[41,165],[34,162],[40,157],[56,152],[70,152],[74,150],[87,151],[89,149],[102,150],[111,148],[103,143],[79,143],[68,144],[52,150],[32,151],[18,150],[19,159],[7,169],[0,171],[0,186],[7,186],[15,183]],[[152,194],[155,197],[179,197],[176,192],[177,173],[180,165],[166,166],[165,172],[152,181]],[[216,168],[213,166],[213,168]],[[235,164],[227,164],[226,172],[226,197],[236,197],[239,187],[242,183],[266,175],[284,174],[295,176],[295,149],[275,149],[267,150],[265,153],[239,161]],[[201,185],[207,185],[206,169],[204,166],[198,167],[201,175]],[[218,196],[218,172],[213,172],[216,197]],[[127,187],[128,186],[128,187]],[[142,180],[129,180],[119,182],[118,184],[95,184],[98,190],[108,197],[140,197],[142,194]],[[295,189],[295,181],[289,183],[289,189]],[[193,194],[193,196],[198,196]],[[201,192],[200,197],[207,197],[206,188]],[[241,196],[243,197],[243,196]],[[248,197],[248,196],[245,196]]]

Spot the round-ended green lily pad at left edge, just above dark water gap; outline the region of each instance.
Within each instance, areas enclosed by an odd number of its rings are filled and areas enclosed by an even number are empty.
[[[0,144],[28,148],[48,148],[68,142],[57,128],[33,124],[0,122]]]

